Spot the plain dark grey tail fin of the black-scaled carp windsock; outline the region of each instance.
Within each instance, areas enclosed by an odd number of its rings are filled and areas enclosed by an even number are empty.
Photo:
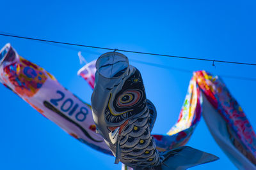
[[[198,166],[219,159],[211,153],[202,152],[189,146],[181,146],[173,150],[160,152],[160,155],[163,157],[161,170],[188,169],[189,167]],[[159,167],[156,167],[156,169],[159,169]]]

